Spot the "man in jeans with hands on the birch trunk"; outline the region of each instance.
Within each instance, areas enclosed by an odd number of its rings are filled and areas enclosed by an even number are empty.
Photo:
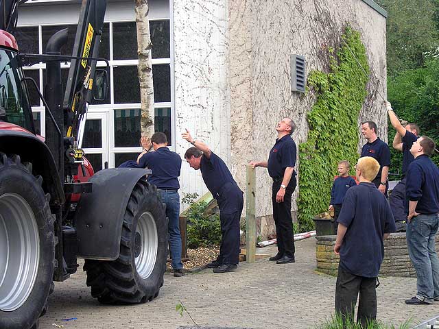
[[[141,143],[143,151],[137,161],[139,167],[152,170],[147,181],[157,186],[157,192],[162,202],[166,204],[171,265],[174,276],[180,277],[184,275],[181,262],[180,195],[178,195],[181,158],[167,148],[167,137],[163,132],[153,134],[150,141],[143,137]],[[151,144],[154,152],[147,151]]]

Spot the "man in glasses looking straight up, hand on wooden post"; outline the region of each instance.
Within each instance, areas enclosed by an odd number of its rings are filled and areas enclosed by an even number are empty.
[[[276,242],[278,252],[270,260],[277,264],[294,263],[294,231],[291,216],[291,197],[296,188],[296,143],[291,134],[296,129],[292,119],[284,118],[276,126],[276,143],[270,150],[268,161],[252,161],[253,168],[268,168],[273,179],[272,204],[273,219],[276,225]]]

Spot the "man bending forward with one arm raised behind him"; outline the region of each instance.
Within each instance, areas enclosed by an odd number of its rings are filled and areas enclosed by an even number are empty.
[[[193,169],[201,170],[204,184],[217,200],[219,207],[221,246],[217,259],[207,267],[213,268],[214,273],[235,271],[239,263],[239,221],[244,207],[243,193],[224,161],[209,146],[195,141],[188,130],[182,134],[182,138],[193,145],[185,153],[186,161]]]

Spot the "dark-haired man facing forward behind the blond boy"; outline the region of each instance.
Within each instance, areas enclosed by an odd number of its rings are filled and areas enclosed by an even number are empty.
[[[379,171],[372,183],[377,186],[379,191],[387,197],[389,188],[388,173],[390,167],[390,149],[386,143],[377,136],[377,124],[373,121],[361,123],[361,134],[367,139],[368,143],[361,149],[361,157],[371,156],[379,163]]]

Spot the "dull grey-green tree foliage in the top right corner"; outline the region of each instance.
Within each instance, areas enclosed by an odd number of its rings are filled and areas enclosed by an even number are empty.
[[[379,0],[388,11],[388,75],[425,64],[426,56],[439,46],[438,0]]]

